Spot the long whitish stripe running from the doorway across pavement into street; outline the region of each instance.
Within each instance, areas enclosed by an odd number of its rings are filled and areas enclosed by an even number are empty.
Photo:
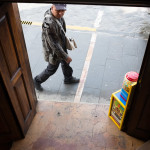
[[[103,16],[103,12],[99,11],[98,15],[97,15],[97,18],[95,20],[95,23],[94,23],[95,28],[100,26],[102,16]],[[78,85],[78,88],[77,88],[77,91],[76,91],[76,95],[75,95],[75,98],[74,98],[75,103],[79,103],[80,100],[81,100],[82,92],[83,92],[83,89],[84,89],[84,84],[85,84],[85,81],[86,81],[86,78],[87,78],[90,62],[91,62],[91,59],[92,59],[92,55],[93,55],[93,51],[94,51],[94,47],[95,47],[95,43],[96,43],[96,37],[97,37],[97,33],[94,32],[92,34],[92,37],[91,37],[90,46],[89,46],[88,53],[87,53],[87,56],[86,56],[86,59],[85,59],[85,62],[84,62],[84,67],[83,67],[83,70],[82,70],[82,74],[81,74],[81,77],[80,77],[80,82],[79,82],[79,85]]]

